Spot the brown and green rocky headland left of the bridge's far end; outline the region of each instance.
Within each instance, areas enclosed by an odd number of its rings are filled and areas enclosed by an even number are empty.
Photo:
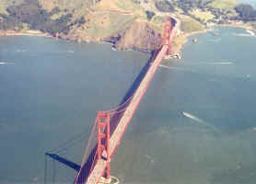
[[[110,41],[119,50],[145,52],[157,50],[162,42],[161,30],[156,29],[162,27],[162,20],[151,21],[133,0],[101,0],[96,4],[90,0],[7,2],[0,0],[6,5],[0,12],[2,32],[39,29],[65,40]]]

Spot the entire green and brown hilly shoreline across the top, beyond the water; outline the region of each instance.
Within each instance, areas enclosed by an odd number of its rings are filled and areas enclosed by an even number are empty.
[[[161,42],[164,17],[180,19],[181,31],[190,33],[234,19],[256,25],[255,12],[235,0],[0,0],[0,34],[40,30],[66,40],[107,40],[122,50],[152,51]]]

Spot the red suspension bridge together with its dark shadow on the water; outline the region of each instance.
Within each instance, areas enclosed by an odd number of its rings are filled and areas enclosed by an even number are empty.
[[[72,163],[59,155],[46,153],[68,167],[77,171],[75,184],[111,183],[111,157],[122,140],[122,135],[133,118],[147,87],[150,85],[157,68],[164,57],[170,55],[170,45],[176,36],[176,29],[171,18],[165,18],[164,39],[162,46],[145,64],[134,85],[115,109],[99,111],[81,166]]]

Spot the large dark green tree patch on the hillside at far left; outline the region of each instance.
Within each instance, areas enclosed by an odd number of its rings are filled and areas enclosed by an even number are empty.
[[[66,13],[64,16],[52,20],[52,15],[58,14],[61,10],[58,7],[52,9],[52,12],[45,11],[38,1],[27,0],[19,6],[9,6],[8,15],[1,15],[3,21],[0,21],[0,29],[22,29],[22,23],[29,25],[29,29],[40,29],[52,35],[62,32],[67,34],[69,29],[85,23],[84,17],[72,22],[72,14]]]

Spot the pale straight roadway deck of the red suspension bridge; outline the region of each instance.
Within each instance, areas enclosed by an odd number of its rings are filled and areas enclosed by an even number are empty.
[[[168,50],[168,45],[163,45],[161,50],[157,53],[155,60],[151,63],[150,67],[148,68],[147,73],[145,74],[140,86],[136,89],[134,93],[134,98],[131,100],[130,104],[125,109],[121,120],[119,121],[116,129],[111,134],[110,140],[110,153],[111,155],[114,154],[115,149],[117,148],[118,144],[122,139],[122,134],[125,132],[126,127],[128,126],[129,122],[132,120],[135,110],[137,109],[141,98],[145,94],[145,90],[150,85],[151,80],[153,79],[154,75],[157,72],[157,68],[161,63],[162,59],[165,57],[166,52]],[[103,153],[103,156],[106,153]],[[107,167],[107,161],[104,159],[99,159],[92,169],[89,177],[87,178],[87,184],[96,184],[99,182],[99,178],[103,175],[105,168]]]

